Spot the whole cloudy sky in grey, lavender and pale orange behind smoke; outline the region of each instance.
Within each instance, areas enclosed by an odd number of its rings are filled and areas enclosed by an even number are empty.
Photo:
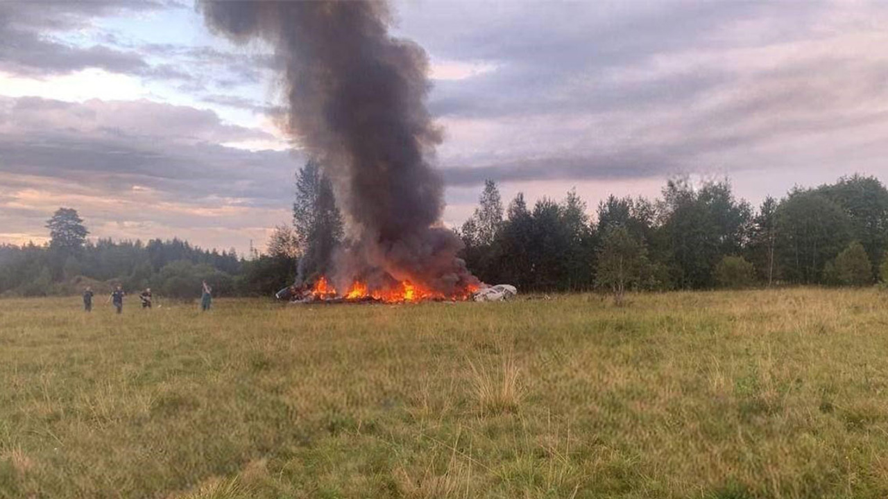
[[[395,4],[432,59],[445,222],[485,178],[590,205],[664,180],[751,202],[860,172],[888,180],[888,3]],[[274,58],[190,2],[0,1],[0,242],[59,206],[95,237],[261,248],[289,221],[298,146]]]

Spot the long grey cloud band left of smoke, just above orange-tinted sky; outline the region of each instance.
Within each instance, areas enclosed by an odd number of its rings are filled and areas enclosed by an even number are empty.
[[[52,137],[12,144],[0,140],[4,154],[0,169],[83,183],[107,194],[147,187],[161,199],[197,205],[210,198],[238,198],[247,206],[267,207],[290,201],[290,177],[299,163],[286,153],[210,145],[160,149]]]

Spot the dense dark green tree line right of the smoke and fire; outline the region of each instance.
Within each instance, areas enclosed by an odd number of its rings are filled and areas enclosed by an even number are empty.
[[[486,182],[458,230],[482,281],[524,290],[714,289],[872,284],[888,249],[888,190],[874,177],[795,187],[754,209],[727,179],[667,182],[662,196],[600,202],[590,218],[575,191],[531,208],[503,207]]]

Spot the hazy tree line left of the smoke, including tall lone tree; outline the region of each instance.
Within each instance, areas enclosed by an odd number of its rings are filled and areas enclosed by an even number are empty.
[[[266,251],[250,257],[234,249],[201,249],[180,239],[90,241],[89,229],[71,208],[59,208],[47,221],[43,245],[0,244],[0,296],[70,295],[123,286],[128,292],[151,288],[164,297],[198,297],[207,281],[220,296],[269,296],[297,276],[327,272],[343,237],[329,179],[317,162],[297,171],[292,225],[274,229]]]

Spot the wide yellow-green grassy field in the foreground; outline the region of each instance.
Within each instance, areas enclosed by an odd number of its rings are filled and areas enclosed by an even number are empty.
[[[888,294],[0,300],[0,497],[886,497]]]

